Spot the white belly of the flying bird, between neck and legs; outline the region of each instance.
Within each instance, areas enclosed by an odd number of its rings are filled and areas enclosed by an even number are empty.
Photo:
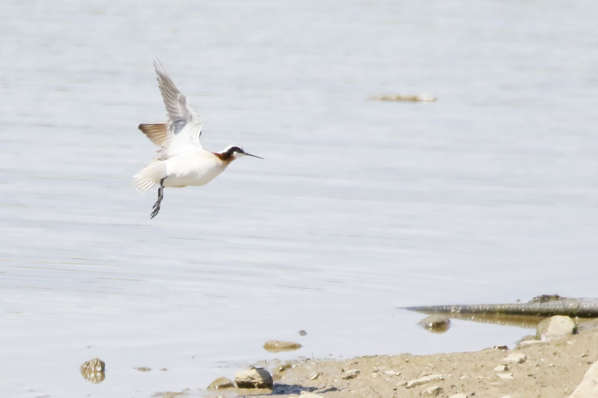
[[[206,185],[227,166],[210,152],[175,156],[166,160],[164,186]]]

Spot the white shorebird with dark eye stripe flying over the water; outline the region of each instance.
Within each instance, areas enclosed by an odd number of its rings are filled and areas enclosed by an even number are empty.
[[[245,155],[263,159],[248,154],[240,146],[230,145],[222,152],[203,149],[199,142],[202,135],[202,119],[197,110],[176,88],[158,60],[154,61],[154,68],[158,75],[158,87],[166,106],[168,122],[139,125],[139,130],[161,149],[152,163],[133,176],[133,185],[142,194],[155,184],[160,184],[158,200],[152,209],[151,218],[160,212],[164,187],[206,185],[224,172],[235,159]]]

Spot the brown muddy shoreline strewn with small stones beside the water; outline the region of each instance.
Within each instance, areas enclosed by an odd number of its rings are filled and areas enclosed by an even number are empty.
[[[526,338],[530,340],[532,336]],[[513,359],[516,354],[519,360]],[[523,355],[520,355],[523,354]],[[508,360],[511,356],[511,360]],[[217,390],[209,396],[340,397],[569,397],[598,361],[596,322],[578,333],[480,351],[417,356],[365,356],[263,363],[273,390]],[[420,381],[417,381],[420,379]],[[414,382],[416,381],[416,382]]]

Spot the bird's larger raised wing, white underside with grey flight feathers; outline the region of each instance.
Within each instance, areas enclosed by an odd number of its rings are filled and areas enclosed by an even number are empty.
[[[154,68],[168,117],[166,142],[160,157],[201,151],[203,148],[199,137],[202,135],[202,118],[187,97],[176,88],[160,61],[154,61]]]

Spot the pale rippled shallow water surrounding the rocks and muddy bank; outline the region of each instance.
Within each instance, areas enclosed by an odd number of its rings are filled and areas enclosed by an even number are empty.
[[[0,8],[5,396],[201,394],[260,360],[512,344],[527,330],[432,335],[396,307],[596,296],[593,2]],[[136,125],[164,119],[154,57],[206,148],[266,159],[166,189],[149,220],[130,176],[155,149]],[[98,385],[78,373],[94,357]]]

